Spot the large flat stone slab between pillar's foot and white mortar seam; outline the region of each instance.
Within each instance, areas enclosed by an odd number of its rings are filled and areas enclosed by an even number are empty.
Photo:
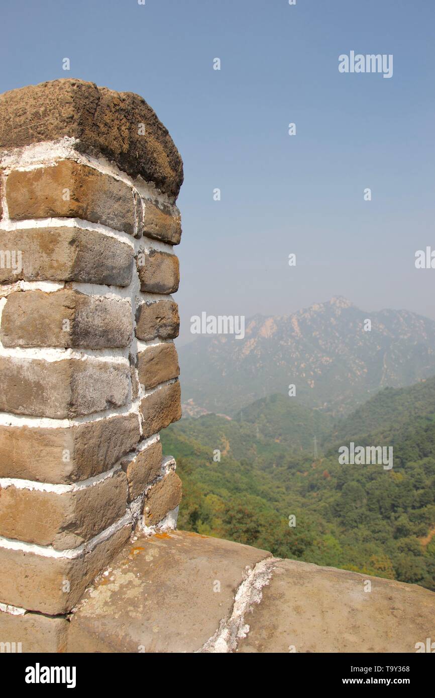
[[[124,547],[110,563],[109,577],[96,580],[84,595],[71,618],[68,652],[198,652],[230,618],[246,567],[272,557],[190,531],[138,534],[134,545]],[[279,605],[274,612],[282,612]]]

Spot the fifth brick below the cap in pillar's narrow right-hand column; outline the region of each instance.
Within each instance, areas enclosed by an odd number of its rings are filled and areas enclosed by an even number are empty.
[[[143,437],[158,433],[165,426],[177,422],[182,417],[181,389],[178,380],[175,383],[156,388],[140,403]]]

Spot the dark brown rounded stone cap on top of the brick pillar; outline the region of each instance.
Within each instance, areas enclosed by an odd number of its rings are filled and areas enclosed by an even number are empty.
[[[0,95],[0,149],[64,136],[78,140],[78,151],[101,154],[131,177],[141,175],[177,198],[182,158],[168,129],[138,94],[68,78]]]

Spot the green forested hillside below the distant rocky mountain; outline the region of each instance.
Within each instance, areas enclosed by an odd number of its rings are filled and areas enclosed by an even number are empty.
[[[299,422],[283,396],[257,401],[237,419],[205,415],[170,426],[162,441],[183,480],[179,528],[435,590],[434,389],[428,380],[382,391],[367,413],[357,410],[325,434],[327,451],[316,459],[323,417]],[[371,434],[350,431],[368,427]],[[337,436],[393,445],[392,470],[340,465]]]

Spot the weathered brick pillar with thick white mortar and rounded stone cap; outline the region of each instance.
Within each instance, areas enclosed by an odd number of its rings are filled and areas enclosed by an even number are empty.
[[[54,80],[0,96],[0,635],[63,651],[136,524],[181,498],[182,160],[137,95]]]

